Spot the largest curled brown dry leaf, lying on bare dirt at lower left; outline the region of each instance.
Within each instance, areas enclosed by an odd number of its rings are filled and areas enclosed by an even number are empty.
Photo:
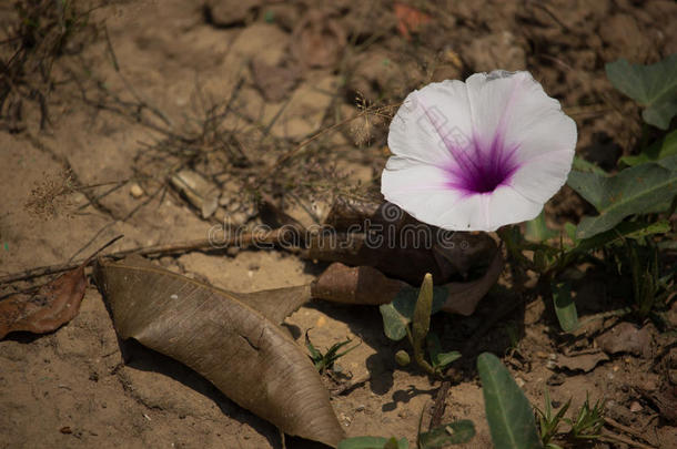
[[[307,287],[240,295],[132,258],[100,259],[94,276],[120,338],[188,365],[285,433],[333,447],[343,438],[320,375],[279,326]]]

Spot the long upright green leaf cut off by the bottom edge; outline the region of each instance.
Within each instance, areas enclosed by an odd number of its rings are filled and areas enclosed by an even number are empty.
[[[496,449],[542,448],[534,410],[507,368],[496,356],[477,358],[484,408]]]

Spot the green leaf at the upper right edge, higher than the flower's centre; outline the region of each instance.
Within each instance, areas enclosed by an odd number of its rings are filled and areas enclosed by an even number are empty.
[[[651,65],[619,59],[606,64],[606,75],[616,89],[645,108],[641,118],[646,123],[669,127],[677,114],[677,53]]]

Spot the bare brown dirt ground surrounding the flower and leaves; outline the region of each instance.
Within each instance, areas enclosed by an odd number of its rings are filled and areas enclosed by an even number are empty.
[[[39,103],[26,100],[20,120],[0,130],[0,275],[82,257],[119,234],[124,238],[111,251],[206,237],[219,221],[203,220],[168,188],[183,167],[216,183],[233,222],[259,223],[245,182],[316,131],[358,112],[362,101],[394,104],[426,82],[497,68],[532,71],[577,122],[577,152],[610,169],[633,151],[641,126],[637,108],[606,81],[604,64],[622,57],[655,62],[677,51],[677,6],[659,0],[412,2],[430,21],[410,32],[386,1],[108,3],[91,13],[98,31],[83,30],[54,62],[59,82],[48,100],[49,122],[41,126]],[[14,16],[2,8],[6,29]],[[214,118],[221,121],[216,131],[210,127]],[[322,134],[276,166],[277,182],[262,188],[304,223],[325,212],[332,193],[377,188],[387,126],[370,120]],[[234,143],[220,146],[223,136]],[[239,165],[238,157],[245,162]],[[99,186],[49,202],[54,211],[27,207],[46,180],[61,185],[69,175],[78,186]],[[546,212],[557,227],[588,207],[565,187]],[[306,284],[326,267],[275,249],[189,252],[156,263],[233,292]],[[603,275],[582,284],[582,315],[618,308],[629,295],[615,292]],[[31,285],[6,285],[0,294]],[[543,405],[546,387],[557,405],[572,397],[573,408],[586,394],[605,398],[607,417],[633,432],[612,428],[616,433],[677,447],[675,415],[670,421],[659,405],[675,398],[665,392],[675,388],[674,337],[635,323],[649,338],[643,350],[605,355],[597,339],[618,319],[567,337],[540,296],[502,292],[492,292],[471,317],[436,315],[433,323],[445,348],[466,349],[443,418],[475,422],[477,435],[466,447],[491,446],[474,369],[483,350],[504,357],[534,405]],[[477,333],[499,305],[518,299],[511,315]],[[675,306],[670,319],[677,325]],[[319,303],[286,323],[300,345],[310,328],[321,348],[345,338],[362,341],[338,360],[358,382],[332,395],[348,436],[415,441],[439,381],[395,364],[405,345],[385,337],[376,307]],[[138,344],[124,346],[123,359],[94,285],[80,314],[57,331],[0,341],[0,448],[282,447],[274,426],[195,373]],[[577,356],[590,355],[596,365],[582,368]],[[286,447],[313,445],[287,438]]]

